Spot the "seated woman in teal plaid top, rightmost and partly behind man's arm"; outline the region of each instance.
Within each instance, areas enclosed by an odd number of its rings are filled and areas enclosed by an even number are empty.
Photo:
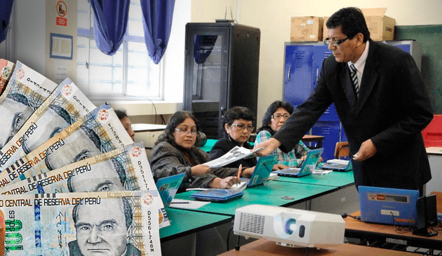
[[[285,123],[294,111],[293,106],[287,101],[275,101],[270,104],[262,118],[262,127],[258,129],[255,145],[270,139]],[[273,166],[273,170],[296,167],[301,160],[304,160],[309,153],[309,148],[299,141],[298,144],[288,153],[282,152],[279,148],[271,155],[278,155],[278,164]]]

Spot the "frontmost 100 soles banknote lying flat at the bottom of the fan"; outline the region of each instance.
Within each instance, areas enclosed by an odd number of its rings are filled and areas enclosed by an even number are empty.
[[[3,195],[6,255],[161,255],[156,190]]]

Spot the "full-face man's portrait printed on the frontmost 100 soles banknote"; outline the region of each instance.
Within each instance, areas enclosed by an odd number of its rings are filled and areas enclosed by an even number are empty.
[[[77,239],[68,244],[71,256],[141,255],[128,242],[133,213],[126,198],[106,199],[94,205],[77,204],[73,221]]]

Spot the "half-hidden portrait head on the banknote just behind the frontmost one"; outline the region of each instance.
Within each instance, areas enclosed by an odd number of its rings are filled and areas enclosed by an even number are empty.
[[[117,159],[90,166],[93,170],[68,178],[70,192],[101,192],[126,190],[126,170]]]

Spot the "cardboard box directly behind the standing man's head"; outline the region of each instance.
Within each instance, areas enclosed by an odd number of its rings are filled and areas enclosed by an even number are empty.
[[[393,18],[385,16],[387,8],[368,8],[361,10],[373,41],[394,40],[394,25],[396,21]],[[327,38],[328,29],[325,23],[327,23],[328,19],[329,17],[324,17],[323,39]]]

